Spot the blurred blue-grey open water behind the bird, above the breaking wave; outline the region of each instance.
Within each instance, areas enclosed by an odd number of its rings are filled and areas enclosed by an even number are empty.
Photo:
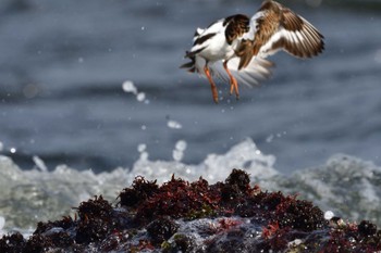
[[[0,152],[22,168],[38,156],[102,172],[131,167],[138,147],[171,161],[184,140],[183,162],[198,164],[251,138],[284,174],[335,153],[380,164],[381,2],[282,3],[325,51],[272,56],[273,77],[239,101],[219,83],[216,105],[208,81],[179,68],[184,52],[196,27],[261,1],[1,0]]]

